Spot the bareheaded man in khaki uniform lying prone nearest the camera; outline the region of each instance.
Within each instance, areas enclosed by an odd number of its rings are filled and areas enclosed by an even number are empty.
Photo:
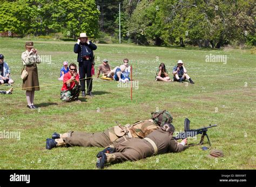
[[[173,139],[174,126],[166,123],[158,130],[146,135],[144,139],[132,138],[122,143],[114,142],[97,154],[96,166],[103,169],[106,163],[137,161],[146,157],[181,152],[187,144],[187,139],[178,143]]]

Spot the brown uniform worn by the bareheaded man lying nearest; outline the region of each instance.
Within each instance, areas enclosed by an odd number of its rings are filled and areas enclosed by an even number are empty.
[[[160,129],[147,135],[145,139],[132,138],[122,143],[114,142],[111,146],[116,150],[113,154],[106,153],[107,163],[137,161],[154,154],[176,153],[184,150],[184,146],[174,140],[169,132]]]

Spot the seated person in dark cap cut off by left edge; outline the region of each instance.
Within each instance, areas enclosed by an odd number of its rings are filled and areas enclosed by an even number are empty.
[[[4,55],[0,54],[0,84],[12,84],[14,81],[10,78],[10,68],[8,63],[4,62]]]

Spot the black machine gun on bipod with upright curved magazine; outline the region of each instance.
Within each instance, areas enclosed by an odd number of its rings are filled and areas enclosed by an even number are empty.
[[[201,140],[199,142],[199,145],[203,144],[204,138],[206,136],[207,139],[208,139],[208,142],[211,146],[209,136],[206,132],[208,131],[208,128],[215,127],[215,126],[217,126],[217,125],[210,125],[208,127],[203,127],[203,128],[198,128],[198,129],[193,130],[193,129],[190,129],[190,120],[186,118],[184,120],[184,132],[179,133],[177,136],[175,136],[173,138],[174,138],[174,140],[179,140],[179,139],[185,139],[189,136],[193,137],[193,136],[196,136],[198,134],[201,134]]]

